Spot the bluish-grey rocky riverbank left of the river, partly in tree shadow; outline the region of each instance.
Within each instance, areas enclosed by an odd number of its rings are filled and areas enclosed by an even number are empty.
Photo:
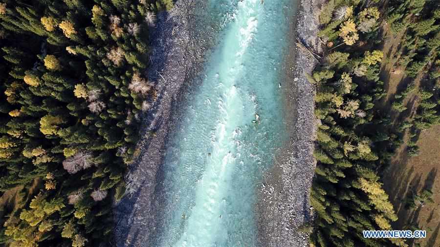
[[[178,0],[170,12],[161,12],[152,33],[151,66],[148,78],[155,81],[158,100],[143,118],[140,155],[130,165],[126,177],[127,193],[115,205],[115,242],[117,246],[152,246],[160,202],[157,182],[169,132],[178,117],[185,83],[198,73],[203,61],[204,44],[194,39],[195,0]],[[173,115],[173,118],[171,117]]]

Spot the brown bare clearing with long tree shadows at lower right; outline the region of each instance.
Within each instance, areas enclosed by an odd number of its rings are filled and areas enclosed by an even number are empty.
[[[395,229],[418,226],[426,230],[426,238],[416,241],[424,247],[440,246],[440,126],[434,126],[420,134],[420,154],[408,157],[402,146],[387,169],[384,186],[395,207],[398,220]],[[433,192],[433,203],[410,209],[405,199],[413,192],[429,189]]]

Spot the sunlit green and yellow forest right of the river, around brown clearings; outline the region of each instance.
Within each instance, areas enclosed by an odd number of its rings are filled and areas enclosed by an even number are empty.
[[[382,187],[383,171],[404,133],[410,135],[406,152],[417,156],[420,131],[440,123],[440,2],[329,0],[319,21],[324,54],[315,56],[319,63],[309,76],[316,86],[318,120],[310,199],[317,217],[311,243],[408,246],[403,239],[363,238],[362,230],[392,229],[397,216]],[[392,57],[382,52],[384,26],[402,37]],[[384,61],[406,78],[392,99],[392,113],[382,107],[387,96],[381,80]],[[409,94],[418,100],[412,108],[403,103]],[[403,114],[398,116],[405,121],[392,121],[392,114]]]

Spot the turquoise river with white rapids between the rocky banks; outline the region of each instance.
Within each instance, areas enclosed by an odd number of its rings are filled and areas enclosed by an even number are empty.
[[[158,246],[255,246],[262,174],[285,141],[291,0],[209,0],[218,41],[164,158]]]

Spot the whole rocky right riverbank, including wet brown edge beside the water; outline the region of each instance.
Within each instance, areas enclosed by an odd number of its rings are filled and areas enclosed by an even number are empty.
[[[309,231],[302,227],[312,220],[309,190],[316,161],[313,158],[314,90],[306,74],[316,65],[296,45],[301,41],[319,52],[317,38],[319,8],[323,0],[300,0],[290,23],[290,47],[286,55],[285,120],[288,142],[278,153],[274,167],[265,174],[259,203],[259,243],[264,247],[306,247]]]

